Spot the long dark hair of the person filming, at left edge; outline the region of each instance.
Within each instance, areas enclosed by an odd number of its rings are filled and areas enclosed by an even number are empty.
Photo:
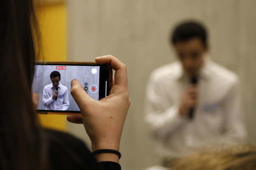
[[[40,162],[44,158],[40,153],[44,144],[40,140],[40,124],[31,98],[36,28],[33,0],[0,0],[2,170],[43,167]]]

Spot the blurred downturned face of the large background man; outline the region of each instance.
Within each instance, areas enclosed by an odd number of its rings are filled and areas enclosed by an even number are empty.
[[[189,75],[196,75],[204,63],[204,54],[207,47],[197,37],[174,45],[175,51],[183,65],[183,69]]]

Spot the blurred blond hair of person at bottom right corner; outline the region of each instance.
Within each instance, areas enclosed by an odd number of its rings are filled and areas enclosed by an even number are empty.
[[[212,151],[204,149],[170,161],[171,170],[255,170],[256,146],[234,145]]]

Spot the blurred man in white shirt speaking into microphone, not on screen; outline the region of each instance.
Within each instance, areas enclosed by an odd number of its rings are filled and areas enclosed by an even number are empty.
[[[189,147],[247,137],[240,112],[239,79],[207,55],[206,29],[181,23],[171,36],[178,61],[152,72],[146,117],[161,156],[181,156]]]

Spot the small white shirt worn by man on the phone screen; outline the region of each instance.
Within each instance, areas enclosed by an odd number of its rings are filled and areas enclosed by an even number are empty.
[[[69,108],[68,88],[59,83],[57,100],[52,99],[55,89],[52,84],[48,84],[43,88],[45,110],[67,110]]]

